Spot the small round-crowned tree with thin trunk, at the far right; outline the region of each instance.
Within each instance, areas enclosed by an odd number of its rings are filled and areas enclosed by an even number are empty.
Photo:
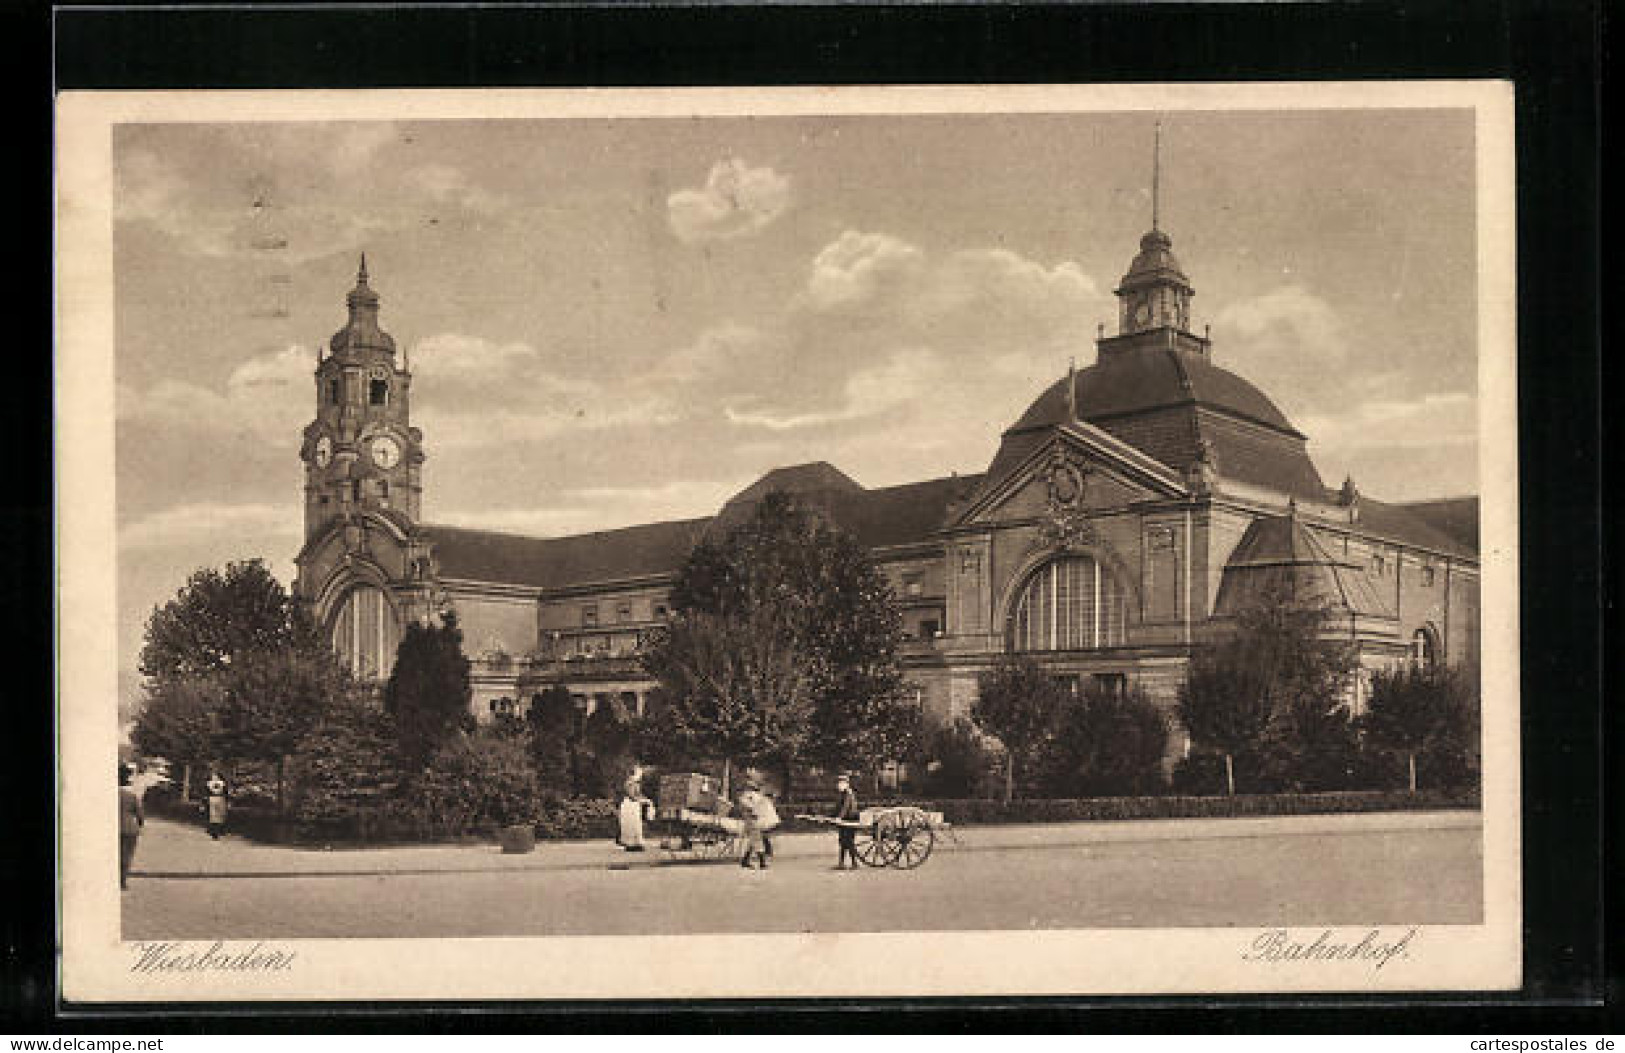
[[[1476,725],[1471,686],[1456,670],[1406,665],[1372,674],[1360,728],[1378,746],[1406,754],[1410,793],[1417,791],[1417,757],[1432,751],[1464,764]]]

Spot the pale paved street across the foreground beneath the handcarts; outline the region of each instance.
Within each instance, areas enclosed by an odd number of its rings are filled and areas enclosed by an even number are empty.
[[[125,939],[1476,923],[1477,812],[967,827],[916,871],[770,871],[603,842],[310,850],[153,821]],[[614,869],[611,869],[614,866]],[[626,869],[621,869],[621,868]]]

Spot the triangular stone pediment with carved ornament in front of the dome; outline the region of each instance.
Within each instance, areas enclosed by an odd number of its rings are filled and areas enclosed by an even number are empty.
[[[1141,500],[1185,497],[1180,473],[1115,436],[1072,421],[1056,427],[1027,458],[988,479],[956,517],[956,526],[1092,515]]]

